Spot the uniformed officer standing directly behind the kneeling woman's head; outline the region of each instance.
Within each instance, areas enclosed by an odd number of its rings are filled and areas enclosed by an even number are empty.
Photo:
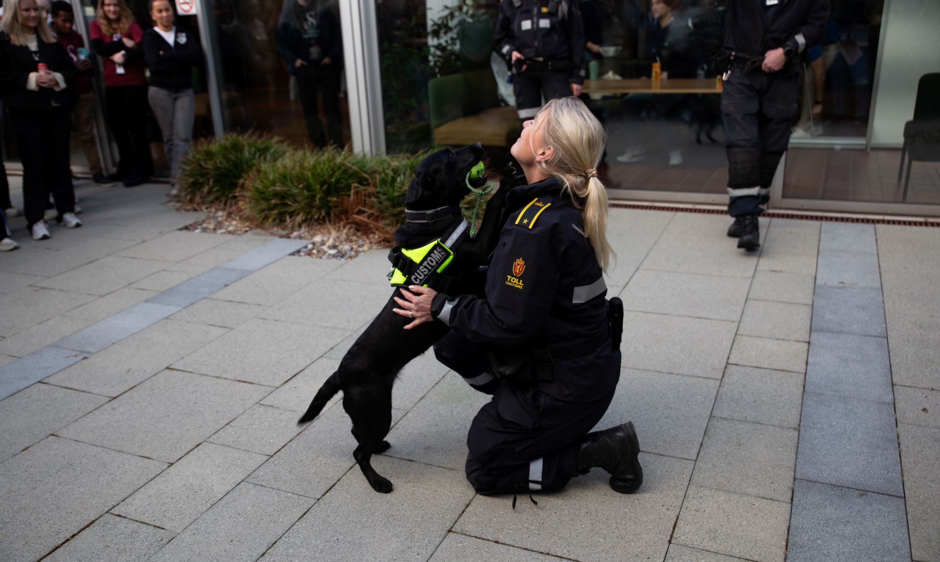
[[[585,32],[577,0],[500,0],[495,43],[514,69],[523,123],[539,113],[543,98],[581,95]]]

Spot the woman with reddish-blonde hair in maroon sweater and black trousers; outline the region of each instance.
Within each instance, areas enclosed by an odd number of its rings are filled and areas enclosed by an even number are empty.
[[[108,125],[118,144],[120,163],[111,180],[134,187],[153,173],[147,119],[147,78],[140,40],[144,31],[133,20],[124,0],[98,0],[91,21],[91,48],[104,63],[104,106]]]

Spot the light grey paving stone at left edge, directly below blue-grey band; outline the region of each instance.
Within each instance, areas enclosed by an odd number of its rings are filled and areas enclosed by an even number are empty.
[[[0,462],[107,401],[49,384],[33,384],[0,400]]]

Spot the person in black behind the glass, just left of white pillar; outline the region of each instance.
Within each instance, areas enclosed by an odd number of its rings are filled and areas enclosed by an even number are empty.
[[[297,79],[310,142],[315,147],[342,146],[339,70],[343,68],[343,40],[329,1],[290,0],[278,19],[275,40],[278,55]],[[318,92],[326,119],[325,134],[317,113]]]

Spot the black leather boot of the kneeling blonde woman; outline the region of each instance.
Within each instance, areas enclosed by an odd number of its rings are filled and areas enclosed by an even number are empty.
[[[637,459],[639,452],[634,422],[594,431],[581,442],[578,472],[584,475],[591,467],[603,468],[610,473],[610,487],[614,492],[633,493],[643,483],[643,467]]]

